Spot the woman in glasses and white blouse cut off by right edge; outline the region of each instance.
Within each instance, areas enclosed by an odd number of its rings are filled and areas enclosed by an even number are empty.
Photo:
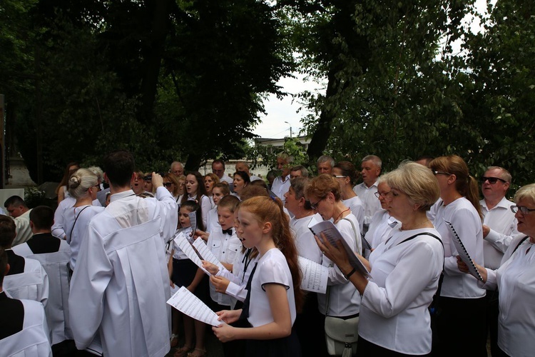
[[[498,356],[531,356],[535,351],[535,183],[516,191],[514,202],[511,211],[521,233],[511,241],[501,266],[496,270],[475,266],[483,278],[481,287],[499,290]],[[457,264],[460,271],[468,272],[462,261]]]

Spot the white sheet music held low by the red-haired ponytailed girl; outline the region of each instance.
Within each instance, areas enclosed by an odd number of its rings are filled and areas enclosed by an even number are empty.
[[[193,295],[193,293],[191,293],[185,286],[178,289],[175,295],[171,296],[167,303],[191,318],[208,323],[208,325],[219,326],[223,323],[218,321],[218,316],[215,312],[210,310],[203,301],[200,301],[200,299]]]

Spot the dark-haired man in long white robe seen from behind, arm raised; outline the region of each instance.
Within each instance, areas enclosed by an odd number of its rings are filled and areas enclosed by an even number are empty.
[[[103,169],[111,202],[91,219],[71,279],[76,347],[105,356],[165,356],[170,287],[164,240],[176,230],[178,208],[155,173],[156,198],[135,196],[128,151],[108,154]]]

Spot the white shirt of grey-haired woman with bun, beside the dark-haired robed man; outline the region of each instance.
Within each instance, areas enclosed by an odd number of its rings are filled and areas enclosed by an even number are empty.
[[[65,228],[67,243],[71,247],[71,261],[68,264],[73,271],[76,267],[78,251],[86,234],[87,226],[93,216],[102,211],[104,211],[102,206],[70,207],[63,211],[63,228]],[[78,219],[76,219],[77,217]]]

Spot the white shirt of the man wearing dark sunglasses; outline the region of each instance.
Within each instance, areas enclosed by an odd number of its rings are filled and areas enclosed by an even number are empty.
[[[491,210],[486,206],[484,199],[479,203],[481,203],[481,213],[484,216],[483,224],[491,228],[483,241],[485,267],[497,269],[509,243],[511,243],[512,236],[519,233],[516,230],[518,221],[509,208],[514,206],[514,203],[503,197]]]

